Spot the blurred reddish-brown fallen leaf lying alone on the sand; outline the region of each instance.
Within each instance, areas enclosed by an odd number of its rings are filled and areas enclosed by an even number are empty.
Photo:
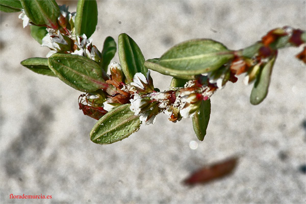
[[[226,161],[213,164],[192,173],[188,179],[184,180],[186,185],[205,184],[207,182],[220,179],[233,172],[238,162],[238,158],[227,159]]]

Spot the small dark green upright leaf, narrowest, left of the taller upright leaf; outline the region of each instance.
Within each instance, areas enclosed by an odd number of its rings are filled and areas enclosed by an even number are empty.
[[[117,45],[112,37],[107,37],[103,44],[102,50],[102,65],[101,67],[107,72],[108,65],[110,64],[111,60],[114,58],[117,51]]]

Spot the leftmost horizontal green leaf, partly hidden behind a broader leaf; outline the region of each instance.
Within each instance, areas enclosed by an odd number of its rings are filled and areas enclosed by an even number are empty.
[[[48,67],[47,58],[29,58],[23,60],[20,64],[36,73],[56,77],[56,74]]]

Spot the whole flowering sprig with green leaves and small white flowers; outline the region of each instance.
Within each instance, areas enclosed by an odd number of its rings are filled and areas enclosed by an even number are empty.
[[[210,97],[216,90],[245,74],[244,82],[253,83],[250,103],[257,105],[267,96],[278,49],[303,46],[296,57],[306,63],[306,33],[291,27],[273,29],[240,50],[211,39],[194,39],[147,60],[137,43],[122,33],[118,37],[120,64],[111,63],[117,52],[115,40],[107,37],[100,52],[89,38],[97,24],[96,1],[80,0],[77,13],[54,0],[3,0],[0,6],[4,12],[21,11],[23,27],[30,24],[32,37],[50,48],[47,58],[29,58],[21,64],[85,92],[79,97],[79,108],[98,120],[90,132],[98,144],[130,136],[142,123],[154,123],[159,113],[168,114],[172,122],[191,117],[202,141],[210,119]],[[173,77],[170,89],[155,88],[149,69]]]

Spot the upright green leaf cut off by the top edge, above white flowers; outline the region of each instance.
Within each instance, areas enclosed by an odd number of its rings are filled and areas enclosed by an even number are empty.
[[[89,38],[95,31],[98,22],[97,2],[94,0],[79,0],[74,28],[77,35],[85,34]]]

